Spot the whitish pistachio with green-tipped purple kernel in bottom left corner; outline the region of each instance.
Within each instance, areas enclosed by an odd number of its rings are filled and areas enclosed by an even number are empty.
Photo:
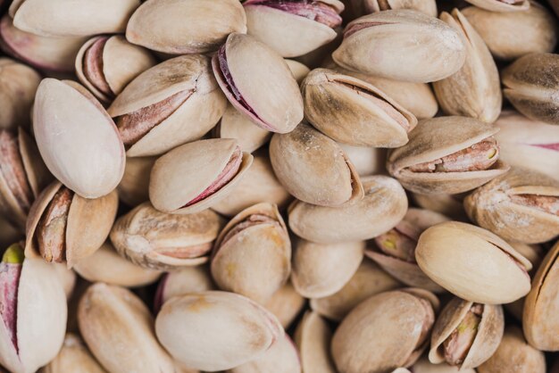
[[[67,307],[62,283],[53,266],[24,258],[21,246],[14,244],[0,262],[0,289],[0,364],[13,373],[33,373],[63,345]]]

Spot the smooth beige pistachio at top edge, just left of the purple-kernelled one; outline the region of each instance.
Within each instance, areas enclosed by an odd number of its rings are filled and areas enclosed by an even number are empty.
[[[166,54],[204,54],[232,32],[246,32],[238,0],[148,0],[130,18],[126,38]]]

